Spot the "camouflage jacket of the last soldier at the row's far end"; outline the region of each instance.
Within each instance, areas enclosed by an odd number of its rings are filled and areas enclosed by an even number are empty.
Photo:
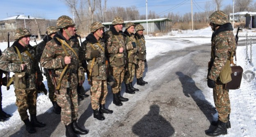
[[[143,54],[144,55],[144,60],[146,60],[146,42],[144,35],[138,35],[138,33],[135,33],[135,39],[136,39],[136,44],[138,48],[138,54]]]

